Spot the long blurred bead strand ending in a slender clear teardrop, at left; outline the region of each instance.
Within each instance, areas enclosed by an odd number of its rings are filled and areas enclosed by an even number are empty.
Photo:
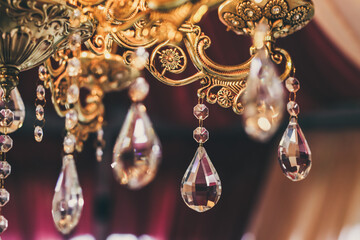
[[[71,23],[79,24],[80,18],[81,13],[77,14],[74,11],[70,17]],[[68,111],[65,114],[67,134],[63,142],[65,155],[52,202],[53,220],[56,228],[62,234],[69,234],[77,226],[84,205],[74,158],[74,153],[79,147],[76,137],[76,126],[79,119],[78,112],[74,108],[80,95],[78,78],[81,74],[81,62],[78,56],[81,52],[81,37],[78,33],[70,36],[69,48],[72,57],[68,59],[66,66],[66,80],[69,87],[66,95]]]

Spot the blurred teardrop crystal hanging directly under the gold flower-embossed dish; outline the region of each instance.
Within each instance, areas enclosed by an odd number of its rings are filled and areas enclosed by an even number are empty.
[[[265,142],[278,129],[284,113],[284,89],[265,50],[258,51],[250,66],[242,97],[246,133]]]

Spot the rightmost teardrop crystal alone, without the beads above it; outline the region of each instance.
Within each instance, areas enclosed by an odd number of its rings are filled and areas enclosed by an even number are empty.
[[[278,160],[285,176],[300,181],[311,169],[311,151],[296,117],[290,119],[278,149]]]

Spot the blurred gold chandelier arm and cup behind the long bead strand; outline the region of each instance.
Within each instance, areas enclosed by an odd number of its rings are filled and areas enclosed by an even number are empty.
[[[66,73],[67,54],[64,51],[55,57],[61,59],[57,68],[50,60],[46,62],[49,79],[46,86],[50,88],[52,102],[59,116],[65,117],[69,109],[78,113],[79,123],[71,130],[77,137],[77,150],[81,151],[83,142],[89,133],[98,131],[104,121],[103,97],[111,91],[127,88],[140,72],[125,64],[119,55],[106,53],[98,56],[89,51],[80,55],[81,74],[78,77],[69,77]],[[67,102],[67,89],[76,84],[82,90],[80,99],[74,104]]]

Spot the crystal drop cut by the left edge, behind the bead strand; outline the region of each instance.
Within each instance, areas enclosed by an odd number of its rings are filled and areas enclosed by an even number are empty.
[[[12,133],[21,128],[25,119],[25,106],[19,90],[14,88],[10,93],[10,101],[6,103],[2,99],[3,90],[0,88],[0,109],[10,109],[14,113],[12,124],[7,127],[0,126],[1,133]]]

